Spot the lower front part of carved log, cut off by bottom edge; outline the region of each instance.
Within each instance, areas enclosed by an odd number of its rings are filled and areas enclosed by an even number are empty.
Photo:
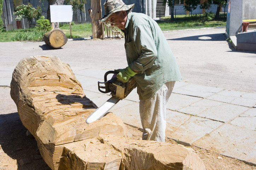
[[[203,161],[191,148],[110,134],[65,146],[60,162],[63,170],[205,170]]]

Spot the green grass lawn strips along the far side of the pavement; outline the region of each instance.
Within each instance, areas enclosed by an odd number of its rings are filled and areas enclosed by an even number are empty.
[[[157,21],[162,31],[198,29],[204,27],[226,26],[226,20],[206,20],[202,16],[176,18],[170,21],[169,18]],[[63,30],[68,38],[70,38],[69,24],[60,24],[59,28]],[[42,41],[43,31],[37,31],[36,28],[17,29],[11,31],[0,32],[0,42],[11,41]],[[91,23],[73,24],[71,26],[72,38],[86,38],[92,35]]]

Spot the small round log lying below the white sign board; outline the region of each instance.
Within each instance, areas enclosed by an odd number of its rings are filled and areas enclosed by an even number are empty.
[[[68,38],[59,28],[55,28],[50,32],[46,32],[43,35],[43,40],[47,45],[50,45],[52,48],[60,48],[68,42]]]

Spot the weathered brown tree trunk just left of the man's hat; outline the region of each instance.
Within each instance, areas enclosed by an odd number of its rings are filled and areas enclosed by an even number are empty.
[[[91,0],[91,9],[88,10],[92,19],[92,38],[103,38],[102,25],[99,23],[101,19],[101,1]]]

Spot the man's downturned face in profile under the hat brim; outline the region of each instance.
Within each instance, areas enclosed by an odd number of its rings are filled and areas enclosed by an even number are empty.
[[[112,13],[107,20],[110,21],[111,26],[118,27],[119,29],[124,30],[127,14],[126,11],[120,11],[118,14]]]

